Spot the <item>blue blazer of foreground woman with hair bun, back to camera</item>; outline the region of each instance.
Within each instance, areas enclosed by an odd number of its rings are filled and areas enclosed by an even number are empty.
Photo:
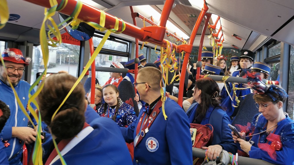
[[[113,120],[98,117],[89,124],[94,130],[63,156],[67,164],[132,164],[126,143]],[[61,165],[60,159],[53,165]]]

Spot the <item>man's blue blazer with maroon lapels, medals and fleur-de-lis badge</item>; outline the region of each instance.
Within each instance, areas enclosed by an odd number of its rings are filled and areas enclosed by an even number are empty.
[[[121,127],[126,142],[134,142],[133,164],[192,164],[187,115],[170,98],[164,109],[166,120],[159,97],[150,106],[142,107],[139,117],[128,128]]]

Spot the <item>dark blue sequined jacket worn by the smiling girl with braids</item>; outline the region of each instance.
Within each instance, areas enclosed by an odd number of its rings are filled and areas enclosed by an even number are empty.
[[[136,112],[134,111],[134,107],[131,105],[128,105],[127,103],[119,100],[119,108],[118,108],[118,114],[116,115],[116,120],[115,122],[120,126],[120,127],[125,127],[133,123],[133,121],[137,118]],[[107,104],[107,103],[104,103]],[[102,117],[109,117],[112,119],[115,109],[111,108],[110,106],[107,105],[108,110],[106,111],[106,114],[104,114],[104,104],[99,105],[97,109],[98,115]]]

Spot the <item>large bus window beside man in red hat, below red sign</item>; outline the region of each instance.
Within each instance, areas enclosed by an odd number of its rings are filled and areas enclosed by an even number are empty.
[[[77,77],[80,56],[80,46],[62,43],[58,47],[49,46],[49,61],[47,72],[57,73],[61,70],[69,72]],[[33,70],[31,72],[31,82],[36,79],[36,73],[44,71],[44,60],[41,46],[34,46],[33,49]]]

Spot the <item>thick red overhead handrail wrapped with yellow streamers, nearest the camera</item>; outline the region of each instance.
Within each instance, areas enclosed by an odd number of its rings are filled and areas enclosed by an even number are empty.
[[[31,2],[31,3],[37,4],[39,6],[46,7],[46,8],[51,7],[48,0],[24,0],[24,1],[28,1],[28,2]],[[61,0],[57,0],[57,2],[60,4]],[[66,15],[71,15],[76,7],[76,3],[77,3],[76,0],[68,0],[66,7],[59,12],[66,14]],[[167,6],[165,6],[163,8],[161,16],[164,14],[169,15],[171,8],[172,8],[172,5],[173,5],[173,0],[167,1],[166,5]],[[170,7],[170,9],[167,9],[167,7]],[[101,14],[101,11],[99,9],[96,9],[92,6],[89,6],[89,5],[83,3],[83,7],[81,9],[80,14],[78,15],[78,18],[83,21],[92,21],[95,23],[100,23],[100,14]],[[109,28],[109,29],[113,28],[115,25],[115,22],[116,22],[116,17],[112,16],[108,13],[105,13],[105,15],[106,15],[106,18],[105,18],[105,26],[104,27]],[[162,17],[166,18],[166,16],[162,16]],[[166,47],[167,41],[163,40],[163,37],[165,35],[165,30],[166,30],[165,29],[166,21],[164,22],[163,18],[161,18],[160,25],[164,25],[164,27],[147,26],[144,28],[139,28],[137,26],[132,25],[131,23],[125,22],[126,28],[123,31],[123,34],[126,34],[126,35],[134,37],[134,38],[138,38],[140,41],[148,41],[148,42],[156,44],[158,46]],[[118,31],[121,31],[122,20],[119,19],[118,22],[119,22],[118,23],[119,24]],[[174,43],[172,43],[172,45],[174,48],[176,48],[177,52],[182,50],[181,48],[178,47],[178,45],[176,45]]]

